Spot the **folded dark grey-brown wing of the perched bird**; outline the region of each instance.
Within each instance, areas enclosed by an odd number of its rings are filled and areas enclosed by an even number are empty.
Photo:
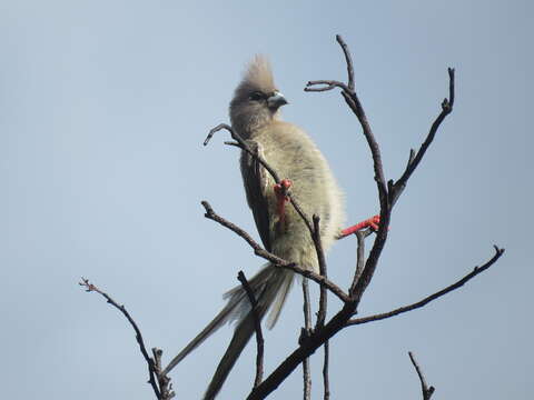
[[[264,160],[261,144],[254,140],[247,140],[247,144]],[[253,210],[256,228],[267,251],[271,251],[270,242],[270,216],[267,201],[269,179],[267,170],[248,152],[241,152],[241,174],[247,193],[248,206]]]

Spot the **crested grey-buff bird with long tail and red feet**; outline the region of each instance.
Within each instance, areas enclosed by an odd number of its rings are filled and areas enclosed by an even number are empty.
[[[265,56],[256,56],[235,89],[229,118],[233,130],[248,148],[284,177],[276,182],[257,158],[241,150],[239,163],[246,199],[265,249],[319,273],[313,238],[306,222],[289,204],[288,191],[305,214],[320,218],[325,251],[339,236],[349,232],[342,230],[345,221],[344,194],[312,138],[298,126],[281,119],[280,108],[285,104],[288,101],[275,84],[269,60]],[[358,229],[373,226],[376,219],[365,222]],[[267,320],[269,329],[276,324],[294,280],[295,272],[273,263],[265,264],[249,279],[257,300],[256,314],[263,319],[270,310]],[[205,400],[215,399],[218,394],[255,332],[255,316],[245,289],[238,286],[226,292],[224,298],[227,303],[222,310],[166,369],[174,368],[222,324],[236,322],[231,341],[204,394]]]

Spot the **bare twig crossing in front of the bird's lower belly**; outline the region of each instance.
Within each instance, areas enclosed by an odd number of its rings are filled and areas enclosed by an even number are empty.
[[[239,228],[238,226],[231,223],[230,221],[224,219],[222,217],[218,216],[214,209],[211,208],[211,206],[207,202],[207,201],[202,201],[201,204],[204,206],[205,210],[206,210],[206,213],[205,213],[205,217],[210,219],[210,220],[214,220],[218,223],[220,223],[221,226],[230,229],[231,231],[234,231],[235,233],[237,233],[239,237],[241,237],[243,239],[245,239],[245,241],[253,248],[254,250],[254,253],[256,256],[259,256],[270,262],[273,262],[273,264],[275,264],[276,267],[281,267],[281,268],[286,268],[286,269],[289,269],[298,274],[301,274],[303,277],[305,278],[309,278],[312,279],[314,282],[318,283],[319,286],[324,286],[326,289],[328,289],[329,291],[332,291],[337,298],[339,298],[339,300],[342,300],[343,302],[346,302],[349,300],[348,296],[343,291],[342,288],[339,288],[337,284],[335,284],[334,282],[329,281],[328,279],[326,279],[325,277],[322,277],[310,270],[307,270],[307,269],[304,269],[304,268],[300,268],[299,266],[297,266],[296,263],[294,262],[289,262],[289,261],[286,261],[270,252],[268,252],[267,250],[265,250],[264,248],[261,248],[261,246],[259,246],[251,237],[250,234],[248,234],[245,230],[243,230],[241,228]]]

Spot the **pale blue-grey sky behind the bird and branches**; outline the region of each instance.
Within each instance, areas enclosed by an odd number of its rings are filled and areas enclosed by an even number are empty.
[[[257,237],[238,152],[201,142],[226,122],[244,64],[274,64],[285,119],[324,150],[352,222],[378,209],[372,162],[339,94],[340,33],[383,149],[402,172],[457,71],[453,114],[414,174],[360,314],[421,299],[506,248],[502,260],[425,309],[347,329],[332,342],[333,399],[418,399],[407,351],[433,399],[530,399],[534,333],[530,231],[533,6],[528,1],[0,1],[0,314],[6,399],[150,399],[125,319],[80,276],[125,303],[166,360],[222,307],[221,293],[263,263],[204,218],[200,200]],[[370,242],[369,242],[370,246]],[[329,253],[346,287],[354,240]],[[266,332],[266,369],[296,346],[300,290]],[[333,300],[330,310],[338,303]],[[198,399],[228,343],[217,332],[171,373]],[[322,396],[320,352],[313,359]],[[244,398],[249,346],[220,399]],[[300,371],[273,399],[297,399]]]

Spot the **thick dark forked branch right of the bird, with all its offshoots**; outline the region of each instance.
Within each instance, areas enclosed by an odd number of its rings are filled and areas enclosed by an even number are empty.
[[[434,140],[434,137],[437,132],[443,120],[448,116],[453,110],[454,104],[454,70],[448,69],[449,74],[449,98],[446,99],[442,103],[442,111],[439,116],[436,118],[429,133],[425,141],[423,142],[419,151],[415,153],[411,151],[411,157],[406,167],[405,173],[399,178],[399,180],[395,183],[393,180],[386,182],[383,163],[382,163],[382,156],[379,146],[373,134],[370,126],[368,123],[367,117],[365,114],[364,108],[355,90],[355,80],[354,80],[354,68],[350,53],[348,51],[348,47],[344,42],[340,36],[336,37],[337,42],[342,47],[342,50],[345,56],[345,60],[347,63],[347,73],[348,73],[348,83],[343,83],[336,80],[315,80],[309,81],[305,88],[305,91],[314,91],[314,92],[323,92],[328,91],[334,88],[342,89],[342,96],[348,107],[353,110],[354,114],[359,121],[362,127],[364,137],[367,140],[372,158],[373,158],[373,168],[375,172],[375,181],[377,184],[378,190],[378,200],[380,204],[380,226],[373,243],[373,248],[369,252],[369,257],[365,261],[358,260],[357,268],[355,272],[355,277],[353,283],[349,289],[349,301],[345,302],[343,309],[337,312],[324,327],[317,327],[317,329],[307,338],[306,341],[299,343],[299,347],[284,361],[281,362],[275,371],[265,379],[265,381],[256,387],[247,399],[264,399],[266,398],[273,390],[275,390],[294,370],[295,368],[303,362],[304,359],[309,357],[314,353],[320,346],[323,346],[328,339],[330,339],[334,334],[336,334],[343,328],[349,324],[358,324],[370,322],[374,320],[380,320],[384,318],[389,318],[395,314],[409,311],[411,309],[415,309],[418,307],[423,307],[429,301],[438,298],[458,287],[464,284],[467,280],[474,278],[476,274],[481,273],[483,270],[490,268],[503,253],[503,249],[496,248],[496,254],[492,260],[490,260],[485,266],[481,267],[479,269],[475,269],[472,273],[466,276],[464,279],[459,280],[458,282],[454,283],[453,286],[419,301],[418,303],[414,303],[412,306],[399,308],[394,310],[389,313],[372,316],[366,319],[356,319],[350,321],[350,317],[354,316],[357,311],[357,307],[362,300],[362,297],[368,287],[370,280],[373,279],[374,272],[376,270],[376,266],[378,263],[378,259],[380,257],[382,250],[384,249],[386,239],[387,239],[387,230],[389,226],[389,218],[393,210],[395,202],[397,201],[398,197],[403,192],[404,188],[406,187],[406,182],[415,171],[415,169],[421,163],[426,150],[428,149],[429,144]],[[358,237],[358,256],[363,254],[363,241],[364,237]],[[362,256],[363,260],[363,256]],[[349,322],[350,321],[350,322]]]

